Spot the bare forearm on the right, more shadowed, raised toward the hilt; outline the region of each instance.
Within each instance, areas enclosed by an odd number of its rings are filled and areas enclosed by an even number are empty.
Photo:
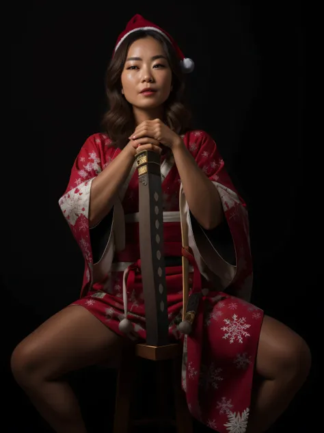
[[[206,230],[215,228],[224,216],[217,189],[200,170],[182,140],[172,148],[172,152],[190,211]]]

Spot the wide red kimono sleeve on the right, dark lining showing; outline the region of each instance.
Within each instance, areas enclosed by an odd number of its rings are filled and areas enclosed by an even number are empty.
[[[245,202],[232,184],[217,145],[208,133],[193,131],[187,146],[198,166],[215,185],[224,211],[224,222],[212,230],[204,229],[190,212],[181,186],[180,207],[189,227],[189,246],[200,272],[215,282],[215,289],[228,289],[249,301],[252,257]]]

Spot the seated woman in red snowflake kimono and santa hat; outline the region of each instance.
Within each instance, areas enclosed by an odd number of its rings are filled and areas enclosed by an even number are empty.
[[[265,432],[308,376],[305,341],[249,303],[245,204],[213,139],[190,129],[180,65],[185,72],[193,68],[170,35],[139,15],[132,18],[107,71],[107,133],[83,144],[59,200],[85,259],[81,296],[12,354],[16,381],[56,432],[86,432],[64,374],[102,363],[122,345],[146,337],[134,164],[145,149],[161,155],[163,210],[174,215],[163,223],[167,311],[170,336],[184,342],[183,389],[192,415],[220,433]],[[179,202],[190,224],[191,283],[202,293],[193,332],[185,338],[178,330]],[[124,226],[113,215],[124,216]]]

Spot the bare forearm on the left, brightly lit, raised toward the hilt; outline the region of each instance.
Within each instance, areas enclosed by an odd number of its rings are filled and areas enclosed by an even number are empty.
[[[135,149],[125,146],[116,159],[92,181],[90,192],[90,227],[96,226],[113,207],[118,189],[128,176],[135,158]]]

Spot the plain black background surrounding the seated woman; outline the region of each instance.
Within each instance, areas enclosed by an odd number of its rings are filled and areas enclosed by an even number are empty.
[[[314,297],[319,257],[311,253],[316,224],[308,211],[316,192],[304,179],[304,11],[298,1],[16,4],[10,17],[10,194],[1,270],[8,384],[3,432],[49,431],[14,384],[10,353],[79,296],[83,259],[58,200],[83,142],[99,130],[105,69],[118,34],[136,13],[169,31],[195,62],[187,76],[195,127],[214,137],[249,209],[252,301],[301,334],[312,350],[308,381],[271,432],[319,427],[314,392],[323,301]],[[109,431],[104,425],[111,425],[115,378],[113,371],[96,369],[75,377],[90,432]]]

